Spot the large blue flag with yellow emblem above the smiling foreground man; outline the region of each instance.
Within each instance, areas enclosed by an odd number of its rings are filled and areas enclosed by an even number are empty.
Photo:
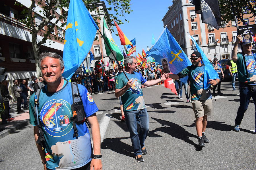
[[[98,29],[83,1],[70,0],[63,50],[63,77],[69,80],[84,61]]]

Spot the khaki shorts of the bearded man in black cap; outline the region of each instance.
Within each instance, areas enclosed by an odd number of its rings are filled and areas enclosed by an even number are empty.
[[[212,114],[212,99],[208,100],[193,100],[193,110],[195,117],[210,116]]]

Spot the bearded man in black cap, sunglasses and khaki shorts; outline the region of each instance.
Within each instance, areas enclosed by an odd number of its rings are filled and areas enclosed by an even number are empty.
[[[196,118],[196,129],[199,147],[204,147],[209,140],[205,136],[207,116],[212,113],[212,94],[210,88],[203,89],[204,65],[201,63],[201,54],[194,51],[191,56],[192,66],[187,66],[179,74],[169,74],[172,79],[180,79],[189,76],[192,106]],[[210,79],[208,84],[216,85],[220,79]]]

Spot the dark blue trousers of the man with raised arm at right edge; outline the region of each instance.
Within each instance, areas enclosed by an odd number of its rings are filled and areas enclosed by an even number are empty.
[[[235,124],[241,124],[243,115],[248,108],[251,97],[253,98],[255,106],[255,128],[256,128],[256,91],[251,92],[245,83],[239,82],[239,91],[240,91],[240,106],[238,107]]]

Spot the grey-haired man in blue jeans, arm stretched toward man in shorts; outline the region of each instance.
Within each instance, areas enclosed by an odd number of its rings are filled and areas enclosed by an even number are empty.
[[[147,81],[142,75],[136,72],[138,64],[136,57],[127,56],[124,60],[124,73],[117,76],[115,81],[115,97],[121,96],[123,103],[125,122],[130,132],[130,137],[133,145],[133,152],[137,162],[143,162],[141,154],[146,154],[145,139],[148,135],[149,119],[146,105],[143,99],[141,85],[152,86],[163,80],[166,80],[167,75],[163,74],[161,78]],[[140,132],[137,131],[137,123],[140,126]]]

